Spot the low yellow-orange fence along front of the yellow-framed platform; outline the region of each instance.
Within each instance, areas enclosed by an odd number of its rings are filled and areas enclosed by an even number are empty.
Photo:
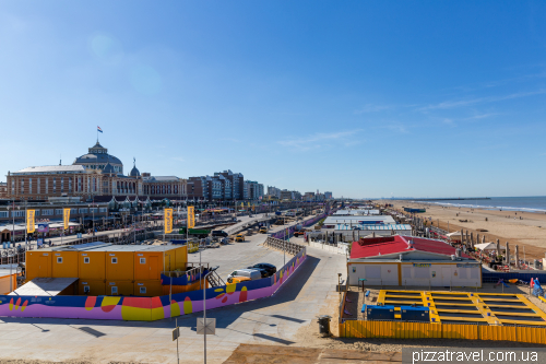
[[[402,322],[346,319],[339,325],[342,338],[467,339],[546,343],[546,328],[439,322]]]

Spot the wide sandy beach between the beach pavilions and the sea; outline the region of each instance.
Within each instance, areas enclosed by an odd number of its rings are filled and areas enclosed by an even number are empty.
[[[428,203],[412,203],[408,201],[376,201],[378,203],[392,203],[394,208],[403,211],[406,208],[425,208],[427,212],[417,215],[431,218],[435,226],[449,231],[468,231],[480,236],[486,236],[486,242],[500,239],[503,246],[509,242],[511,246],[519,245],[520,251],[525,250],[526,260],[545,258],[546,251],[546,214],[520,211],[498,211],[471,208],[441,207]],[[459,213],[459,216],[456,215]],[[487,218],[487,221],[486,221]],[[522,218],[522,220],[520,220]],[[467,220],[467,222],[461,222]],[[478,230],[487,230],[479,232]],[[520,255],[523,259],[523,254]]]

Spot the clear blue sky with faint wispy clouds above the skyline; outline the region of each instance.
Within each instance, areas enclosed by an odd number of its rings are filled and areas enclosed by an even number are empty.
[[[153,175],[546,195],[544,1],[2,1],[0,47],[4,174],[100,126]]]

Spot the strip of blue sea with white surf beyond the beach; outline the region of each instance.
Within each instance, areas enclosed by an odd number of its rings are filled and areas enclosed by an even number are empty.
[[[435,201],[431,199],[418,200],[415,202],[434,203],[439,206],[475,208],[486,210],[507,210],[507,211],[527,211],[527,212],[546,212],[546,196],[529,196],[529,197],[491,197],[485,199],[464,199],[464,200],[447,200]]]

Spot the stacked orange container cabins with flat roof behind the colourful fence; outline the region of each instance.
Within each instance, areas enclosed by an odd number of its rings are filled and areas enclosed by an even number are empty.
[[[162,272],[185,271],[187,262],[186,246],[96,242],[26,251],[26,281],[76,278],[74,294],[155,296]]]

